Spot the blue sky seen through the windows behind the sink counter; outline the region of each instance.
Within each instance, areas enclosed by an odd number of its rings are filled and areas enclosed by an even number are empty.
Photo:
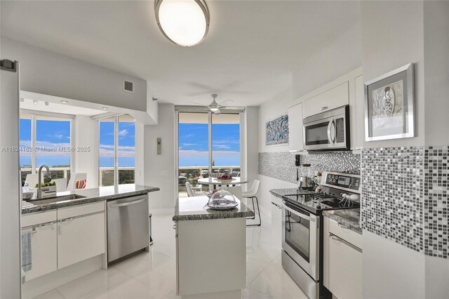
[[[31,147],[31,119],[20,119],[20,147]],[[36,166],[70,164],[70,121],[37,120]],[[135,124],[119,123],[119,167],[134,167]],[[76,149],[75,149],[76,150]],[[93,148],[91,148],[93,150]],[[100,123],[100,167],[114,166],[114,123]],[[31,165],[31,152],[20,153],[20,166]]]

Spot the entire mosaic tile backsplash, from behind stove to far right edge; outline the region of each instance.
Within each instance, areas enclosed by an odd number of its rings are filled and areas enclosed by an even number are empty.
[[[425,255],[449,258],[449,146],[365,148],[361,155],[301,158],[313,171],[361,171],[364,230]],[[296,182],[295,155],[259,153],[259,174]]]

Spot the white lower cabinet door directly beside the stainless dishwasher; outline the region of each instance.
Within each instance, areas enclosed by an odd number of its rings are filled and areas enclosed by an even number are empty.
[[[58,269],[105,253],[105,212],[58,220]]]

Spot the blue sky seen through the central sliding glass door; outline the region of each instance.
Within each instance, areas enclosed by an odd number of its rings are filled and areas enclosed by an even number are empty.
[[[208,166],[208,124],[179,124],[179,166]],[[215,166],[240,166],[240,125],[212,125]]]

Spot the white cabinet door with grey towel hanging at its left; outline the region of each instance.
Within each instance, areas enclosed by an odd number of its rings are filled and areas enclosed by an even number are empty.
[[[27,281],[57,270],[56,221],[34,225],[31,234],[32,268],[25,272]],[[33,227],[24,227],[27,230]]]

